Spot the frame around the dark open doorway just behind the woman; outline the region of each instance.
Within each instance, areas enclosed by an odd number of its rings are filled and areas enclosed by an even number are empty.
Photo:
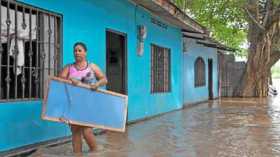
[[[110,29],[110,28],[106,28],[106,31],[105,31],[105,47],[106,47],[106,76],[108,76],[108,71],[107,71],[107,66],[108,66],[108,39],[107,39],[107,34],[108,33],[114,33],[114,34],[117,34],[117,35],[120,35],[122,37],[124,37],[124,56],[123,56],[123,63],[124,63],[124,68],[123,68],[123,74],[122,74],[122,77],[123,77],[123,88],[124,88],[124,94],[127,95],[127,34],[124,33],[124,32],[120,32],[120,31],[117,31],[117,30],[114,30],[114,29]]]

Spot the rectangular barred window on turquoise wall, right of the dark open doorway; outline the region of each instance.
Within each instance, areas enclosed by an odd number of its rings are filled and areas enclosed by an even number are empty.
[[[170,49],[151,45],[151,92],[170,92]]]

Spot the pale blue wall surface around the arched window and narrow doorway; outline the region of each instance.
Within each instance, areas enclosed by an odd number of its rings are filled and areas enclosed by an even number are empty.
[[[217,49],[197,44],[193,39],[186,39],[187,52],[184,53],[184,104],[208,100],[208,59],[213,59],[213,94],[218,97],[218,58]],[[205,63],[206,85],[194,87],[194,62],[202,57]]]

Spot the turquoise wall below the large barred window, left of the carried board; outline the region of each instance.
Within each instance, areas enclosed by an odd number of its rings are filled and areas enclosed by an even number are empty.
[[[41,120],[41,102],[0,104],[0,152],[69,135],[66,125]]]

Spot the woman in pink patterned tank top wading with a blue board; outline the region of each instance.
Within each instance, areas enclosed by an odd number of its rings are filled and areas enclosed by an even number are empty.
[[[82,42],[74,44],[75,62],[63,68],[59,77],[69,79],[73,84],[88,83],[92,90],[107,84],[107,79],[100,68],[89,63],[86,58],[87,47]],[[70,124],[72,131],[72,145],[74,153],[82,152],[82,137],[89,146],[90,151],[96,149],[96,141],[91,127]]]

